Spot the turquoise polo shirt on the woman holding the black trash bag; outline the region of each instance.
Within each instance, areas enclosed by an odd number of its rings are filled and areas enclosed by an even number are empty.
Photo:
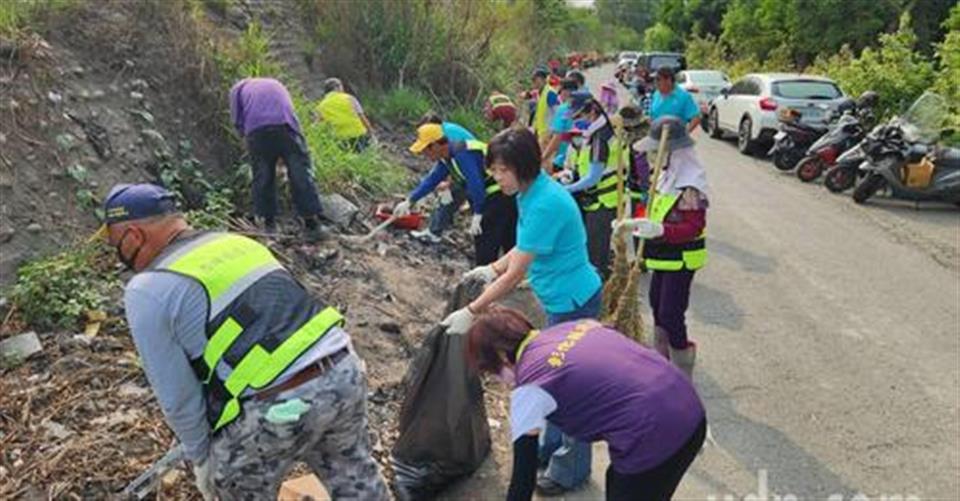
[[[527,278],[543,309],[559,315],[586,304],[602,283],[573,196],[541,172],[517,195],[517,211],[517,250],[534,256]]]

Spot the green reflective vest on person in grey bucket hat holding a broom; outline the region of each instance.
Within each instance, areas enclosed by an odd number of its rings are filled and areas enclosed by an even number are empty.
[[[663,220],[680,199],[680,194],[665,195],[658,193],[647,216],[651,221],[663,223]],[[670,244],[660,239],[647,240],[643,245],[644,264],[648,270],[680,271],[699,270],[707,264],[706,232],[696,240],[683,244]]]

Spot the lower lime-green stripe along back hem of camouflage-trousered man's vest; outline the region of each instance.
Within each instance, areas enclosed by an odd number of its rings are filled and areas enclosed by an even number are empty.
[[[331,327],[342,324],[343,316],[334,308],[326,308],[297,329],[273,353],[256,344],[244,355],[224,382],[232,395],[224,406],[214,431],[230,423],[240,414],[239,396],[248,387],[261,389],[269,385],[294,360],[313,346]]]

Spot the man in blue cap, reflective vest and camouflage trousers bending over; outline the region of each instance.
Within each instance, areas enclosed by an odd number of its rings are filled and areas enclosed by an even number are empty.
[[[334,498],[388,499],[340,313],[260,243],[193,230],[159,186],[115,186],[104,215],[101,233],[136,272],[130,333],[203,498],[276,498],[304,462]]]

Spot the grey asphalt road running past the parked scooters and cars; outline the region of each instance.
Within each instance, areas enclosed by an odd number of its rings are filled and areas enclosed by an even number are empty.
[[[677,498],[960,499],[960,211],[857,206],[694,138],[710,257],[688,323],[716,446]],[[602,496],[596,451],[568,499]]]

